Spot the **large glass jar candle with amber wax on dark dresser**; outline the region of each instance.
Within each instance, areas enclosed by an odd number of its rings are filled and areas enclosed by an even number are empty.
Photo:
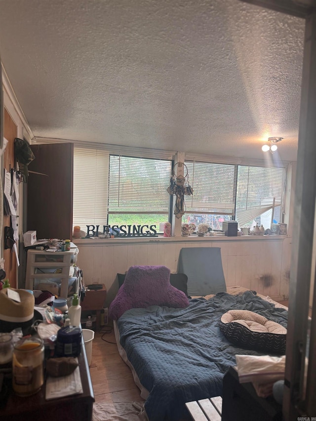
[[[12,357],[12,387],[18,396],[37,393],[44,383],[44,343],[31,336],[14,344]]]

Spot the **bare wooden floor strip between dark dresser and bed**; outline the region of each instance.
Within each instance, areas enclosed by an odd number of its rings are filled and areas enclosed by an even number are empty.
[[[130,369],[118,354],[116,344],[95,332],[92,342],[91,380],[96,402],[143,402]],[[115,343],[114,332],[103,338]]]

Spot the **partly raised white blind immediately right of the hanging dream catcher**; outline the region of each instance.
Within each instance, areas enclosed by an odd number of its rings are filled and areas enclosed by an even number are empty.
[[[237,165],[185,161],[193,195],[187,213],[235,215]]]

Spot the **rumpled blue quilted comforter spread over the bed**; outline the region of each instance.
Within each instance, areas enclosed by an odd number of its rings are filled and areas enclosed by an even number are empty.
[[[255,311],[286,327],[287,311],[251,291],[193,299],[187,308],[134,308],[118,319],[120,344],[149,391],[150,421],[188,416],[185,402],[222,394],[223,376],[236,364],[236,354],[260,355],[237,348],[221,333],[219,320],[230,309]]]

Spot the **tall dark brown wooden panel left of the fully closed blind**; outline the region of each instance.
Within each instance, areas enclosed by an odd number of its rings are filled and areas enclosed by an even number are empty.
[[[35,159],[29,164],[27,181],[27,230],[37,231],[38,240],[72,239],[74,145],[31,145],[31,149]]]

